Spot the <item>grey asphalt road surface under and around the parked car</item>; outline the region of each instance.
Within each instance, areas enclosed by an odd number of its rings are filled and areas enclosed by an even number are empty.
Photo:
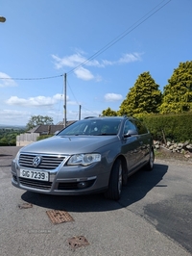
[[[138,171],[119,201],[102,194],[53,196],[11,184],[18,147],[0,147],[0,255],[192,255],[192,164],[156,160]],[[23,203],[31,208],[22,209]],[[53,224],[46,211],[66,211],[74,221]],[[89,244],[71,248],[68,239]]]

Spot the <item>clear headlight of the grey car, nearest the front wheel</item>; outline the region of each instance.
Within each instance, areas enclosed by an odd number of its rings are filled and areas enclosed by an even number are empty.
[[[100,154],[79,154],[73,155],[68,163],[67,166],[89,166],[93,163],[101,161]]]

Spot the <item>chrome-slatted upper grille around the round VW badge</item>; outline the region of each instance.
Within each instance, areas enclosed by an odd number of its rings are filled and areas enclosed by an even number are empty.
[[[42,169],[55,169],[60,166],[65,159],[65,156],[60,155],[20,154],[18,161],[19,166],[35,168],[35,166],[33,166],[33,161],[36,156],[40,156],[41,158],[41,162],[37,168]]]

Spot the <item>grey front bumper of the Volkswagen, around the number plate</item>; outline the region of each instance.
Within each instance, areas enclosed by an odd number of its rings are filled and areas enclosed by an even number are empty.
[[[91,166],[60,166],[48,172],[49,181],[23,178],[20,176],[20,167],[12,161],[12,185],[25,191],[58,195],[78,195],[108,189],[110,171],[102,163]]]

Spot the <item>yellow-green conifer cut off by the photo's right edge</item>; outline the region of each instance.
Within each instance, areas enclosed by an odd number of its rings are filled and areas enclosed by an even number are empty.
[[[192,62],[180,63],[164,87],[161,114],[192,110]]]

